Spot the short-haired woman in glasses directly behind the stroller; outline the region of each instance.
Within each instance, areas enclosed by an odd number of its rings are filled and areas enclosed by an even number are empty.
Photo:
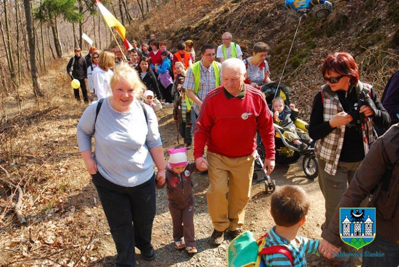
[[[269,78],[269,64],[266,56],[270,51],[268,44],[257,42],[252,49],[252,57],[244,59],[247,68],[247,79],[245,83],[251,84],[253,87],[262,86],[271,82]]]

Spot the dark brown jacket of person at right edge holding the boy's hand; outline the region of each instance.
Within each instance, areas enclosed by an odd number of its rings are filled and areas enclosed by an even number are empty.
[[[392,173],[387,180],[386,191],[380,191],[378,197],[371,201],[375,207],[375,235],[385,239],[395,246],[399,244],[399,125],[395,124],[373,143],[366,158],[354,173],[353,179],[340,203],[336,213],[331,219],[328,228],[323,230],[321,236],[336,246],[342,246],[340,238],[339,208],[359,207],[360,203],[372,190],[383,183],[383,177],[390,163],[393,165]],[[379,188],[380,189],[380,188]],[[376,192],[378,192],[377,190]],[[375,203],[375,205],[372,205]],[[393,246],[393,245],[392,245]]]

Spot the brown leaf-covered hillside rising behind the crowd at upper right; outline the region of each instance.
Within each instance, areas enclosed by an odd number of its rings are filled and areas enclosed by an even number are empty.
[[[179,40],[192,39],[195,49],[203,43],[220,44],[220,36],[229,31],[246,56],[257,41],[270,44],[268,59],[271,78],[280,79],[296,30],[288,22],[281,0],[188,1],[184,7],[170,2],[146,20],[127,29],[127,35],[143,41],[154,32],[175,48]],[[336,51],[347,51],[357,60],[361,79],[384,88],[386,80],[399,69],[399,3],[397,1],[338,0],[326,19],[303,19],[282,82],[293,88],[293,100],[308,114],[309,100],[323,83],[320,65]],[[174,18],[173,14],[179,14]],[[198,52],[197,52],[198,53]],[[298,96],[301,96],[299,99]],[[303,97],[305,96],[305,97]]]

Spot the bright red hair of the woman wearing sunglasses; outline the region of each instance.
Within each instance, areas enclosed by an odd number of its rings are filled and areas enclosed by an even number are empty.
[[[359,67],[353,57],[345,52],[337,52],[328,55],[321,66],[323,76],[328,72],[335,72],[350,77],[350,84],[355,85],[359,81]]]

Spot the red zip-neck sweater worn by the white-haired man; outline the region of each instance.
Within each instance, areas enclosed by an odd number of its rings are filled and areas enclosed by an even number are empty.
[[[205,97],[194,135],[194,158],[208,151],[230,158],[245,157],[256,149],[259,130],[267,158],[275,159],[273,117],[262,93],[245,85],[245,96],[226,97],[223,85]]]

